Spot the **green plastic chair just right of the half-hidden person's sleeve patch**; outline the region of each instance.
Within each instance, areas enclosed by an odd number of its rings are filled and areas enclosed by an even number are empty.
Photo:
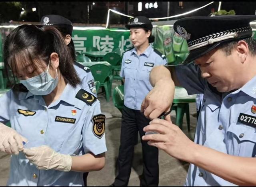
[[[104,64],[94,64],[90,66],[90,70],[92,72],[94,80],[100,82],[100,87],[104,87],[106,100],[108,102],[111,94],[111,68]]]

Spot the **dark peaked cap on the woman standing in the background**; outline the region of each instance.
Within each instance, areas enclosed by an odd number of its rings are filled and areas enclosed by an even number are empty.
[[[132,18],[130,23],[125,26],[126,28],[145,28],[148,30],[152,30],[153,26],[151,24],[151,21],[146,18],[145,16],[136,16]]]

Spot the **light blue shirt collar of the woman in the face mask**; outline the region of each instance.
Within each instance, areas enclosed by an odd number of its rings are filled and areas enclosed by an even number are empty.
[[[72,106],[75,106],[79,109],[82,109],[83,106],[80,104],[80,102],[77,102],[76,94],[80,90],[80,87],[72,87],[69,83],[66,85],[65,89],[63,90],[60,98],[56,100],[55,102],[51,103],[48,107],[56,106],[59,102],[64,101]],[[26,95],[26,99],[30,96],[34,96],[34,99],[40,100],[42,96],[34,95],[30,91]]]

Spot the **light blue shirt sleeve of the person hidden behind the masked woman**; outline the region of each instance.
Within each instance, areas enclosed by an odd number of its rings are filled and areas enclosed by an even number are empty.
[[[94,96],[97,96],[94,77],[92,76],[90,68],[84,67],[82,64],[79,64],[78,62],[74,63],[74,68],[76,70],[78,77],[81,79],[81,88],[90,92]]]

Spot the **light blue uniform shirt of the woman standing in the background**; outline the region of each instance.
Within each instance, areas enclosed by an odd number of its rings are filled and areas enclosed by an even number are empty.
[[[155,51],[151,45],[140,55],[135,48],[124,53],[120,77],[125,78],[124,105],[126,107],[140,110],[142,101],[153,89],[149,81],[151,69],[166,64],[166,57]]]

